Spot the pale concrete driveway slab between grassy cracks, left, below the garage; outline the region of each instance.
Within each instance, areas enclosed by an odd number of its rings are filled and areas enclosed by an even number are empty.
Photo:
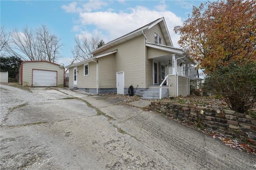
[[[87,107],[79,99],[60,99],[28,104],[9,113],[3,126],[23,125],[40,122],[55,122],[80,119],[96,115],[95,109]],[[28,119],[29,117],[29,119]]]

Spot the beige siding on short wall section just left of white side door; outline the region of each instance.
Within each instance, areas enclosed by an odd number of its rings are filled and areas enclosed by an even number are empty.
[[[100,57],[98,61],[99,88],[116,88],[115,54]]]

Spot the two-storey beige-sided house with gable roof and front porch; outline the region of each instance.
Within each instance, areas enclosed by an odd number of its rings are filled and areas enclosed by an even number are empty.
[[[132,85],[134,91],[137,88],[135,95],[145,99],[190,93],[188,68],[196,63],[183,49],[173,47],[164,18],[108,42],[91,54],[92,58],[66,66],[70,88],[94,94],[128,94]]]

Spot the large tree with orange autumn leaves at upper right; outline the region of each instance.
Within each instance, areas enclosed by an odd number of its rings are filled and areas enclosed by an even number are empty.
[[[230,62],[256,62],[256,1],[206,2],[194,7],[183,26],[178,44],[188,49],[206,73],[222,69]]]

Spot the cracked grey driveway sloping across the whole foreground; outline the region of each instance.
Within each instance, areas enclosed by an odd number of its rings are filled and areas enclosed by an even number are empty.
[[[256,169],[255,155],[138,107],[50,88],[0,90],[1,169]]]

